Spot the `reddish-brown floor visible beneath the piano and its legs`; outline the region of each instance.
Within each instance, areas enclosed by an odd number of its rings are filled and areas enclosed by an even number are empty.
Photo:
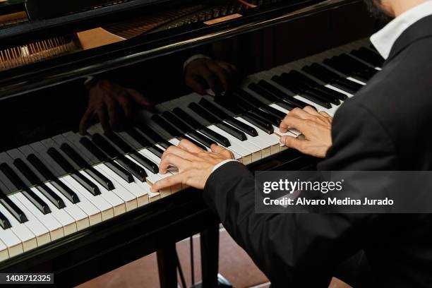
[[[200,282],[199,236],[194,236],[195,281]],[[189,240],[177,243],[177,252],[184,271],[186,284],[191,283],[191,260]],[[253,287],[268,288],[269,283],[263,272],[253,263],[251,258],[232,240],[229,234],[220,232],[220,273],[236,288]],[[78,288],[157,288],[157,261],[155,253],[140,258],[128,265],[113,270],[93,280],[80,284]],[[347,284],[333,279],[329,288],[349,288]]]

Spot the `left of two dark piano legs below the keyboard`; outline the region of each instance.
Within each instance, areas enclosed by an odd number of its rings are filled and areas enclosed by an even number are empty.
[[[156,254],[160,287],[177,288],[176,244],[169,244]]]

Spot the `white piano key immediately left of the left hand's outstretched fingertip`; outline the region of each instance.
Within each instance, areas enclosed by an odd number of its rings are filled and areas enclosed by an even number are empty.
[[[136,184],[135,182],[126,182],[123,178],[117,175],[116,172],[109,169],[105,164],[97,164],[94,167],[99,172],[104,173],[106,176],[109,176],[109,178],[114,180],[116,184],[119,184],[119,186],[124,188],[122,190],[119,190],[121,193],[121,197],[124,197],[125,200],[130,202],[133,201],[133,198],[135,198],[137,207],[143,206],[148,203],[148,195],[146,191],[144,191],[142,187],[138,186],[138,184]]]

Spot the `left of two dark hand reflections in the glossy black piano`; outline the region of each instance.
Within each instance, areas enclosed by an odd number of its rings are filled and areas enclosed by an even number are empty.
[[[150,107],[150,102],[138,91],[124,88],[109,80],[95,80],[88,83],[88,107],[80,121],[80,134],[85,135],[95,118],[99,119],[104,131],[118,129],[133,119],[137,105]]]

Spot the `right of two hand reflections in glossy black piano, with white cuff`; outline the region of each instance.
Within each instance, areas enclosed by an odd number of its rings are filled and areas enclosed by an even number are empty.
[[[201,95],[229,91],[239,80],[236,66],[204,55],[192,56],[184,66],[186,85]]]

